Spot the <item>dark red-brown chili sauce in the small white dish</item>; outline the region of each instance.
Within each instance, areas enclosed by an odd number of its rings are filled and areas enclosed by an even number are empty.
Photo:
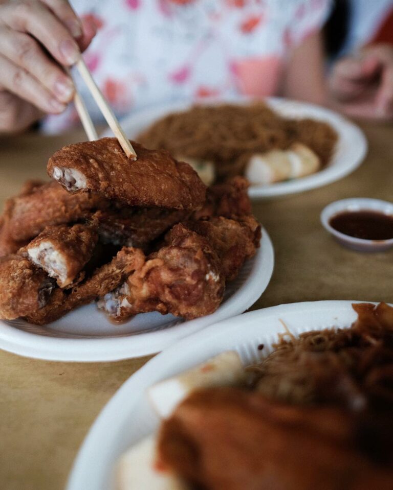
[[[344,211],[333,216],[329,224],[344,235],[363,240],[393,238],[393,216],[378,211]]]

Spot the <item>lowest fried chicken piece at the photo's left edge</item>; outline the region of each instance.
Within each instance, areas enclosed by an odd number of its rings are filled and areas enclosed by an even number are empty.
[[[39,310],[53,288],[53,279],[25,256],[0,259],[0,318],[13,320]]]

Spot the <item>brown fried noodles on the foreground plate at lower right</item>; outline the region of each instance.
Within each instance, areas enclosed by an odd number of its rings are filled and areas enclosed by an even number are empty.
[[[282,335],[263,362],[248,367],[255,389],[292,404],[393,409],[393,308],[353,307],[350,329]]]

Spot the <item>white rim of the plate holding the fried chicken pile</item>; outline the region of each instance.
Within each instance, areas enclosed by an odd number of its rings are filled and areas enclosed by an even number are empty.
[[[211,315],[175,324],[167,329],[101,338],[43,336],[19,330],[0,320],[0,348],[25,357],[62,362],[110,362],[156,354],[172,343],[207,328],[212,323],[247,310],[263,294],[270,283],[274,269],[274,248],[265,228],[262,228],[260,247],[251,260],[254,263],[245,281],[246,284],[235,291],[223,305],[224,313],[222,309],[220,310],[220,306]],[[263,274],[262,282],[261,274]],[[241,306],[234,305],[231,308],[231,304],[236,302],[237,298],[241,298]],[[206,318],[209,316],[212,318],[206,323]],[[215,319],[217,317],[219,320]],[[203,326],[200,326],[201,323]]]

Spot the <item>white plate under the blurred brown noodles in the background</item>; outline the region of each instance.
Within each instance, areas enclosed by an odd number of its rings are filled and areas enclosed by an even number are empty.
[[[227,98],[221,102],[245,104],[250,100],[244,97]],[[307,177],[277,182],[270,185],[253,185],[249,194],[253,199],[270,199],[288,194],[308,191],[329,184],[353,172],[363,161],[367,152],[367,140],[358,126],[343,118],[336,112],[303,102],[287,99],[269,98],[266,102],[280,114],[289,118],[312,118],[329,123],[338,133],[339,139],[335,154],[328,166],[320,172]],[[213,102],[208,102],[209,104]],[[214,101],[214,103],[217,103]],[[163,116],[177,111],[184,111],[191,107],[191,102],[176,102],[133,112],[125,118],[121,125],[130,139]],[[105,131],[101,136],[113,136],[111,130]]]

